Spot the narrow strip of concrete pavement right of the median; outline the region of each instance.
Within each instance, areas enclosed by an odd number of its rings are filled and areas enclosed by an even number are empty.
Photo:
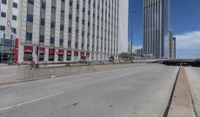
[[[197,117],[200,117],[200,68],[186,68]]]

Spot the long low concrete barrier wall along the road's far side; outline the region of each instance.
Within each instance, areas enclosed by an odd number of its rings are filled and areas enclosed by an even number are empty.
[[[112,70],[118,68],[126,68],[138,66],[141,64],[106,64],[106,65],[91,65],[91,66],[72,66],[72,67],[41,67],[31,68],[30,66],[15,66],[12,69],[0,70],[0,84],[7,82],[20,82],[38,79],[48,79],[60,76],[69,76],[82,73],[98,72]],[[143,64],[144,65],[144,64]],[[9,70],[11,72],[9,72]],[[2,74],[11,74],[6,78],[1,78]]]

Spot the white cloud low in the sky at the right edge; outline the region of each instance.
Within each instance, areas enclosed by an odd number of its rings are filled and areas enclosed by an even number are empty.
[[[175,35],[178,56],[193,57],[200,53],[200,31]]]

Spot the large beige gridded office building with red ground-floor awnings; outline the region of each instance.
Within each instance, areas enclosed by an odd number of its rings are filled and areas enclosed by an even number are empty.
[[[119,0],[21,0],[15,61],[108,60],[119,52]]]

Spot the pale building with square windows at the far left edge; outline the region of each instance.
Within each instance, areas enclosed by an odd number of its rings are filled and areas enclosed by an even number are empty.
[[[12,53],[18,24],[19,0],[0,0],[0,62],[5,62]]]

